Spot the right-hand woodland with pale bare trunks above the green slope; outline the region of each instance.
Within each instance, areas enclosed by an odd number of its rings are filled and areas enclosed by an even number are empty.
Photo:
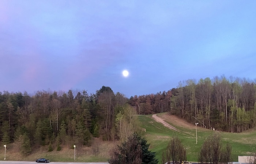
[[[167,92],[133,96],[129,104],[142,115],[169,111],[219,131],[239,133],[256,125],[256,84],[232,76],[180,81]]]

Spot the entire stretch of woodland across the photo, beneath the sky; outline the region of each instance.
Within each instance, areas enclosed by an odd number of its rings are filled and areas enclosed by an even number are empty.
[[[54,142],[60,149],[60,145],[90,145],[91,137],[124,140],[139,128],[136,114],[161,112],[191,123],[200,121],[208,129],[243,132],[256,125],[256,84],[225,76],[187,80],[167,92],[129,99],[105,86],[90,96],[85,90],[37,91],[34,95],[3,91],[0,141],[29,139],[35,148]]]

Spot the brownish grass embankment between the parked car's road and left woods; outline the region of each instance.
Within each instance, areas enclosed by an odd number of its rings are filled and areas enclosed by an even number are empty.
[[[62,146],[61,151],[56,151],[53,146],[53,151],[48,152],[48,146],[43,146],[39,149],[32,148],[33,151],[28,156],[23,156],[19,153],[19,145],[10,144],[6,149],[6,160],[8,161],[35,161],[38,158],[46,158],[51,162],[107,162],[109,159],[109,151],[114,143],[102,141],[98,138],[93,138],[90,147],[76,146],[76,157],[74,160],[74,148],[72,145]],[[3,147],[4,148],[4,147]],[[0,160],[4,159],[4,149],[0,149]]]

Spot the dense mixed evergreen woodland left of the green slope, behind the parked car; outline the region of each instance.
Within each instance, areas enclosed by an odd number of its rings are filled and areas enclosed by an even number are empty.
[[[136,129],[136,111],[121,93],[103,86],[95,94],[83,90],[66,92],[0,92],[0,141],[19,143],[29,154],[57,143],[71,148],[90,145],[91,137],[125,140]]]

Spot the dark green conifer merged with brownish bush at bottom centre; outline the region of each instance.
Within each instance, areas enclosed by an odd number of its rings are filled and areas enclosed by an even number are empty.
[[[155,152],[148,150],[150,144],[138,133],[130,135],[124,143],[117,145],[109,160],[110,164],[157,164]]]

